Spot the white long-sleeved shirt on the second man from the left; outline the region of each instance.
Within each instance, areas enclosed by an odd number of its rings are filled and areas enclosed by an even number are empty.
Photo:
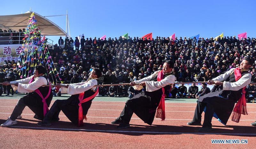
[[[76,94],[80,94],[80,93],[85,92],[86,90],[90,90],[90,89],[95,91],[97,89],[97,87],[93,87],[93,86],[95,86],[97,84],[98,84],[98,82],[96,79],[91,79],[87,82],[68,84],[68,88],[61,87],[61,93],[76,95]],[[61,85],[67,85],[67,84],[61,84]]]

